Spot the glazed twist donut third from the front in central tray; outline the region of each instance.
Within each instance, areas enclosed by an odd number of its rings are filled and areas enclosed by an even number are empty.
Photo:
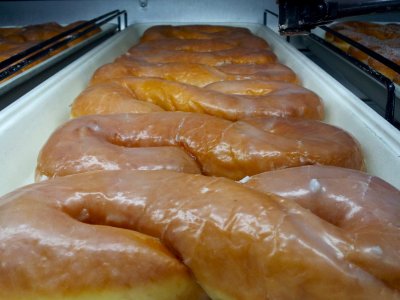
[[[148,101],[164,110],[201,112],[232,121],[261,116],[290,116],[317,120],[323,118],[323,106],[319,97],[295,84],[239,80],[225,81],[221,85],[239,86],[241,91],[235,90],[236,94],[225,94],[212,90],[213,85],[199,88],[150,77],[117,78],[101,83],[100,87],[103,91],[106,89],[104,86],[107,86],[111,92],[112,87],[118,86],[112,92],[114,98],[127,99],[130,94],[130,99]],[[105,111],[101,103],[93,105],[99,96],[96,86],[92,85],[90,90],[84,91],[74,100],[71,108],[73,117]],[[119,93],[122,89],[125,91],[123,96],[120,96]],[[108,100],[107,94],[104,94],[103,97],[106,101]],[[111,98],[110,101],[112,101]],[[113,107],[111,102],[107,105],[110,108]]]

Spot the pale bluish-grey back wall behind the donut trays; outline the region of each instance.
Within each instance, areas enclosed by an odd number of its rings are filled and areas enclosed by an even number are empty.
[[[275,0],[139,0],[0,1],[0,26],[89,20],[111,10],[128,11],[128,22],[262,23],[264,9],[277,11]]]

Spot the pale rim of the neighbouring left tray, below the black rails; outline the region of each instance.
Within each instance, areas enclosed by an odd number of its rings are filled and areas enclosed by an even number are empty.
[[[10,91],[11,89],[15,88],[19,84],[31,79],[33,76],[39,74],[40,72],[50,68],[51,66],[55,65],[56,63],[60,62],[64,58],[72,55],[73,53],[79,51],[83,47],[101,39],[102,37],[110,34],[111,32],[115,31],[117,28],[116,24],[104,24],[101,26],[101,31],[88,37],[87,39],[81,41],[80,43],[73,45],[60,53],[47,58],[46,60],[42,61],[41,63],[37,64],[36,66],[8,79],[4,82],[0,83],[0,95]]]

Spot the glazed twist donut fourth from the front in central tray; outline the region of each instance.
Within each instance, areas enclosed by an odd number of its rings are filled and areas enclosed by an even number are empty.
[[[222,80],[279,80],[297,82],[296,74],[282,64],[230,64],[212,67],[196,63],[151,64],[143,61],[114,62],[96,70],[90,85],[126,76],[158,77],[199,87]]]

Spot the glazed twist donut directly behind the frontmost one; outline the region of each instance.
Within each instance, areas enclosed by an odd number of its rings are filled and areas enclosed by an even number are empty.
[[[321,122],[283,118],[230,122],[205,114],[160,112],[91,115],[67,122],[41,150],[36,178],[95,169],[155,169],[149,164],[173,169],[168,155],[148,154],[140,147],[179,147],[203,174],[235,180],[310,164],[364,168],[358,143]]]

